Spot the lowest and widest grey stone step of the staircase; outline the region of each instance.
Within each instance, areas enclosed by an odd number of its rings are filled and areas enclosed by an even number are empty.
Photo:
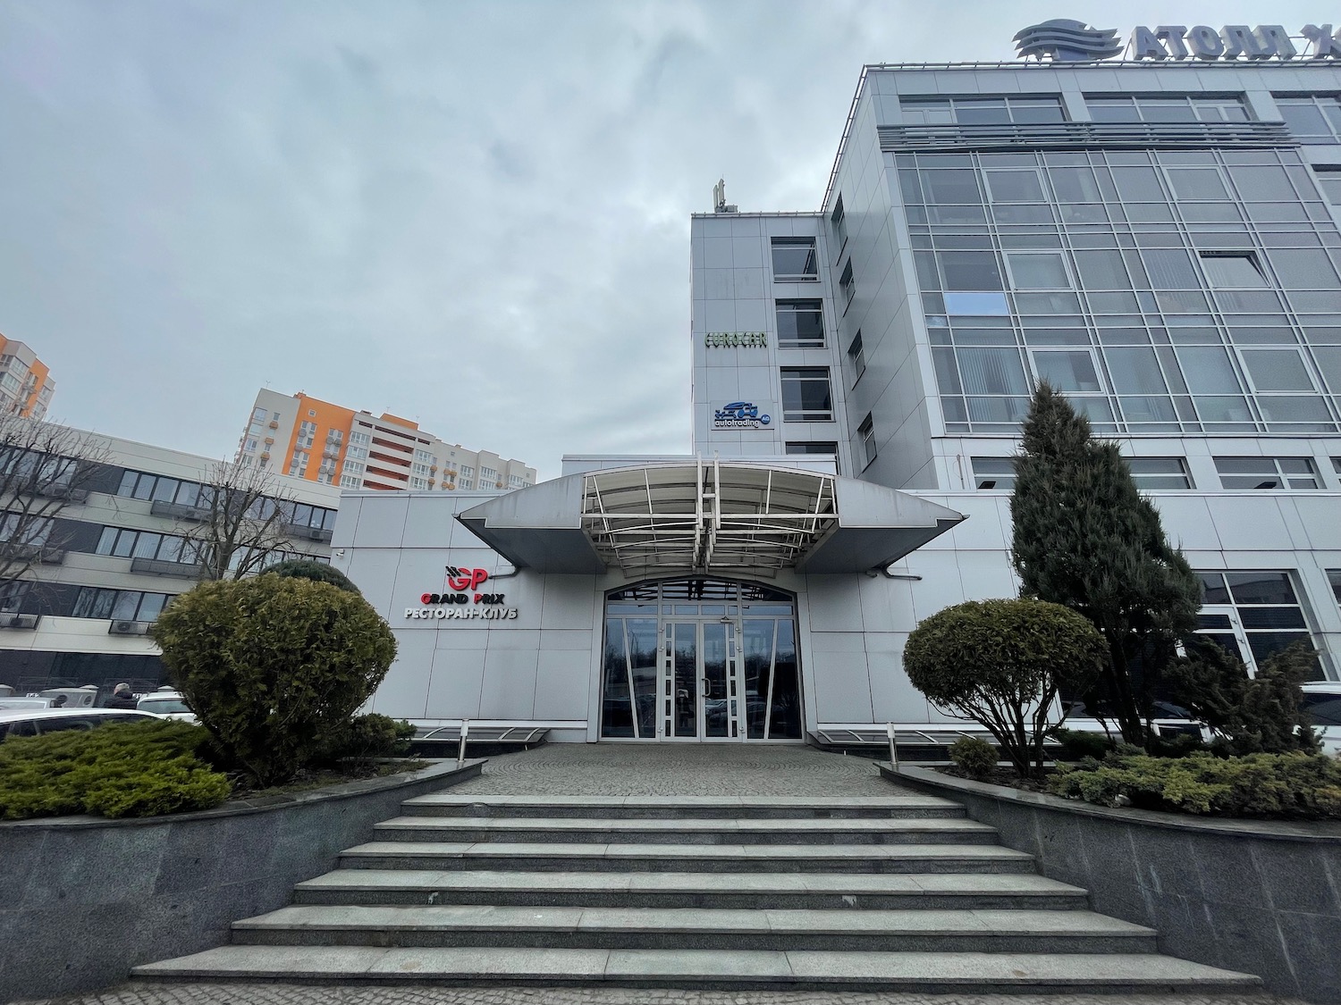
[[[137,966],[137,980],[853,990],[923,994],[1242,992],[1257,977],[1148,953],[381,949],[223,946]]]

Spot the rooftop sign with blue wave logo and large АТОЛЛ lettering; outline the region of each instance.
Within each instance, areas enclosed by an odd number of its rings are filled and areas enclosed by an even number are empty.
[[[1298,36],[1306,42],[1306,59],[1341,56],[1341,31],[1330,24],[1305,24]],[[1067,63],[1112,59],[1122,51],[1116,28],[1093,28],[1084,21],[1054,19],[1015,35],[1023,58]],[[1219,31],[1207,24],[1137,25],[1132,29],[1129,59],[1294,59],[1301,55],[1290,34],[1279,24],[1226,24]]]

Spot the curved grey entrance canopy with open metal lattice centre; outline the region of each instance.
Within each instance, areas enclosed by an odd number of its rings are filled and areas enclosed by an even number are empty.
[[[539,572],[774,576],[880,568],[964,517],[856,478],[699,460],[570,474],[457,519]]]

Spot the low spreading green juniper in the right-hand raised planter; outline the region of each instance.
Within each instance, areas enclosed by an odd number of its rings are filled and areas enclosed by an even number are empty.
[[[1053,792],[1098,805],[1210,816],[1341,819],[1341,760],[1321,754],[1151,757],[1112,753],[1058,765]]]

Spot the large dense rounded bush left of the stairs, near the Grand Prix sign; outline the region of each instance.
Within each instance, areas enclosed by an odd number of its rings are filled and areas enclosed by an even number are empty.
[[[318,760],[396,658],[392,630],[362,596],[292,576],[202,583],[153,635],[221,754],[263,788]]]

